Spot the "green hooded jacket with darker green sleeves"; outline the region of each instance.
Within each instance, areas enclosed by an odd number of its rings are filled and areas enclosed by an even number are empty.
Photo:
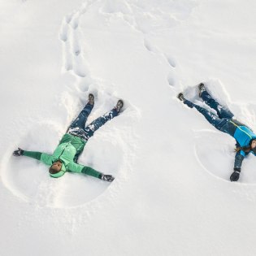
[[[99,178],[102,174],[101,172],[98,172],[91,167],[85,167],[84,165],[76,163],[78,156],[84,150],[85,143],[86,141],[83,141],[80,137],[66,133],[54,150],[54,154],[24,150],[24,155],[40,160],[48,166],[51,166],[54,162],[60,159],[63,162],[61,171],[56,174],[50,173],[50,176],[54,178],[63,176],[66,171],[82,172],[89,176]]]

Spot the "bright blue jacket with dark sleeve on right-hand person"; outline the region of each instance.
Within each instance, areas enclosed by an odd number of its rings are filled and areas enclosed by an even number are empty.
[[[229,134],[235,138],[236,146],[244,147],[250,145],[252,140],[256,140],[256,134],[248,128],[245,124],[241,124],[237,120],[231,119],[229,120]],[[234,163],[234,170],[240,171],[241,164],[245,158],[245,156],[249,153],[254,154],[252,150],[249,152],[245,152],[240,150],[236,153],[235,163]],[[256,155],[256,154],[254,154]]]

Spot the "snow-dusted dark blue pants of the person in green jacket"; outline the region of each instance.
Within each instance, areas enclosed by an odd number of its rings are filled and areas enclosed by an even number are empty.
[[[118,111],[116,111],[116,109],[114,108],[110,112],[107,112],[105,115],[98,117],[98,119],[95,119],[91,124],[85,127],[86,120],[88,119],[88,116],[92,109],[93,105],[87,103],[84,109],[80,112],[80,114],[67,129],[67,133],[76,135],[78,137],[81,137],[83,140],[88,141],[89,137],[92,137],[93,133],[96,132],[98,128],[100,128],[107,121],[113,119],[116,115],[118,115]]]

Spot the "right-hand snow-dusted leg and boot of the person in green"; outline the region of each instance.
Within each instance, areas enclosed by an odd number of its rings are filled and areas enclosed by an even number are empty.
[[[96,132],[98,128],[102,127],[102,125],[106,124],[107,121],[117,116],[123,105],[124,102],[122,100],[119,100],[117,102],[117,105],[110,112],[107,112],[105,115],[98,117],[98,119],[95,119],[91,124],[86,126],[84,129],[86,139],[88,140],[90,137],[93,136],[94,132]]]

